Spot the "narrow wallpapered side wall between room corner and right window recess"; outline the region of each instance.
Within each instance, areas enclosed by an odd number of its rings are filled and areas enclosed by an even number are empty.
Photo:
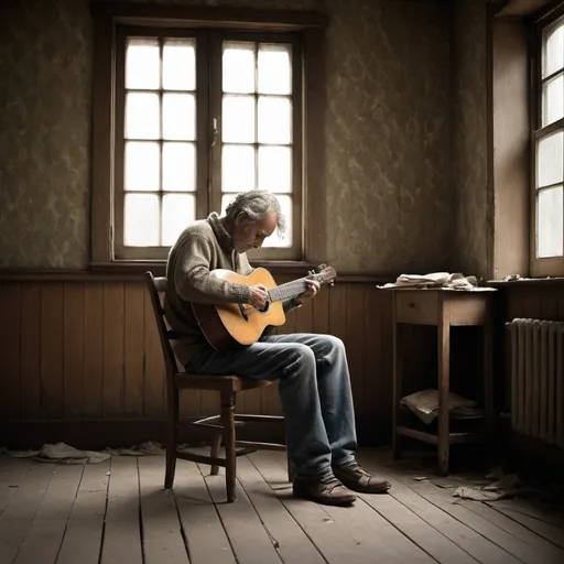
[[[491,278],[488,187],[488,30],[486,0],[456,0],[453,24],[453,269]]]

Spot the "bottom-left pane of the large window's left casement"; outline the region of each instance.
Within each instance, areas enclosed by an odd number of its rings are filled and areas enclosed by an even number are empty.
[[[127,247],[159,245],[159,196],[126,194],[123,245]]]

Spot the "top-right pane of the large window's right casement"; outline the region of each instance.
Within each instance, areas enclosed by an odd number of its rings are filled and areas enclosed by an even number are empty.
[[[259,47],[259,93],[292,94],[291,45]]]

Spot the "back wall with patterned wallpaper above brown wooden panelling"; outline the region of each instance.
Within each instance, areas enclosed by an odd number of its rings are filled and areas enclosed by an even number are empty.
[[[171,3],[317,9],[329,15],[327,262],[359,274],[452,270],[459,264],[452,257],[464,245],[463,270],[481,268],[481,243],[453,237],[453,209],[466,186],[452,182],[453,22],[446,0]],[[1,2],[0,52],[0,270],[85,271],[88,0]],[[471,155],[460,161],[468,164]],[[460,173],[469,171],[460,166]],[[479,178],[473,182],[478,191]],[[460,202],[458,209],[466,229],[470,210]],[[9,422],[0,424],[0,444],[100,446],[162,437],[162,366],[139,278],[22,273],[3,275],[0,284],[0,420]],[[377,292],[375,281],[338,281],[323,295],[313,310],[293,314],[284,329],[344,338],[359,437],[387,443],[390,295]],[[186,419],[215,408],[209,397],[195,393],[182,413]],[[275,390],[241,397],[240,409],[278,413]]]

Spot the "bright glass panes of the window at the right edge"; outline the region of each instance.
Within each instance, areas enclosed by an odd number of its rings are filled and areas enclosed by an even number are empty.
[[[564,22],[542,34],[542,111],[536,132],[536,257],[564,256]]]

